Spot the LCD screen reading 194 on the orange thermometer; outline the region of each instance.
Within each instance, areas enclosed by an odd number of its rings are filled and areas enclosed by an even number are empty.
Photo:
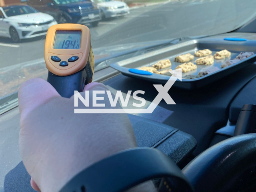
[[[81,43],[81,31],[57,30],[54,38],[54,49],[79,49]]]

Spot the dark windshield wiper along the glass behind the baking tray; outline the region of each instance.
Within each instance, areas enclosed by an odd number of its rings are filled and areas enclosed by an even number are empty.
[[[106,60],[116,58],[116,57],[119,57],[119,56],[124,56],[124,55],[131,54],[131,53],[138,52],[138,51],[153,50],[155,48],[164,47],[164,46],[171,45],[171,44],[178,44],[178,43],[188,41],[188,40],[192,40],[192,38],[190,38],[190,37],[174,38],[174,39],[166,40],[164,42],[156,43],[156,44],[153,44],[153,45],[142,46],[142,47],[138,47],[138,48],[132,48],[132,49],[129,49],[129,50],[121,51],[121,52],[118,52],[116,54],[112,54],[111,56],[95,60],[94,61],[95,66],[97,66],[101,62],[104,62]]]

